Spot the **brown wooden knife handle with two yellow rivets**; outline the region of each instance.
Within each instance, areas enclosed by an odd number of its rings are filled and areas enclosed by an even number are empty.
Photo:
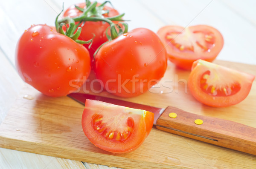
[[[171,112],[176,113],[177,117],[169,117]],[[203,123],[195,124],[196,119],[203,120]],[[196,115],[169,106],[158,118],[156,127],[176,135],[256,155],[256,128],[241,123]]]

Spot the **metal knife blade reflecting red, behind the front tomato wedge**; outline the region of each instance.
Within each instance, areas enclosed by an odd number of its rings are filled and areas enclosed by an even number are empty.
[[[163,108],[158,108],[158,107],[153,107],[144,104],[139,104],[139,103],[133,103],[133,102],[128,102],[125,100],[119,100],[119,99],[114,99],[114,98],[109,98],[109,97],[103,97],[103,96],[96,96],[96,95],[89,95],[85,93],[70,93],[67,95],[68,97],[72,98],[73,100],[76,100],[77,102],[81,103],[84,105],[86,99],[90,100],[98,100],[106,103],[111,103],[119,106],[125,106],[125,107],[130,107],[134,109],[142,109],[146,110],[148,112],[154,113],[154,125],[157,123],[157,119],[160,117],[160,115],[163,113],[164,109]]]

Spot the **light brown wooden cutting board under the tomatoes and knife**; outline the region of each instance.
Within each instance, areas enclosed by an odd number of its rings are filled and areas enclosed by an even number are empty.
[[[219,60],[215,63],[256,74],[255,65]],[[241,103],[212,108],[192,97],[186,88],[188,75],[189,71],[175,69],[169,63],[158,85],[143,95],[123,100],[158,107],[176,106],[195,114],[233,120],[256,128],[255,81],[250,94]],[[86,86],[83,90],[87,89]],[[95,84],[94,87],[97,90],[99,86]],[[115,97],[104,91],[96,95]],[[0,147],[121,168],[256,168],[254,155],[173,135],[154,127],[137,150],[126,154],[105,152],[84,135],[82,112],[83,106],[69,97],[47,97],[26,85],[0,126]]]

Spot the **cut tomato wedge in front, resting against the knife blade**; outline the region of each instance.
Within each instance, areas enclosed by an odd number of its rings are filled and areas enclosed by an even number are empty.
[[[151,112],[87,99],[82,127],[95,146],[108,152],[126,153],[143,143],[153,121]]]

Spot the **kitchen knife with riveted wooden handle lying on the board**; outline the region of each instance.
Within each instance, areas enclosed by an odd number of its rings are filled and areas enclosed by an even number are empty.
[[[163,109],[84,93],[71,93],[68,96],[83,105],[86,99],[91,99],[143,109],[154,113],[154,125],[157,129],[256,155],[256,128],[241,123],[196,115],[172,106]]]

